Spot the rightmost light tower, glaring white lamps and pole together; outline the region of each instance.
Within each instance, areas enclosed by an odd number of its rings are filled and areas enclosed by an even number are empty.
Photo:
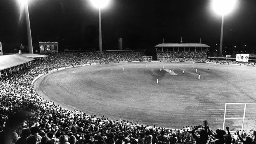
[[[216,13],[222,15],[221,19],[221,39],[219,45],[219,56],[222,57],[222,46],[223,46],[223,25],[224,15],[228,14],[236,5],[236,0],[213,0],[212,7]]]

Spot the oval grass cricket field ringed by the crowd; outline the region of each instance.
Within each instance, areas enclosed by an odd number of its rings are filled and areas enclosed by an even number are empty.
[[[255,67],[203,63],[145,65],[115,63],[69,68],[42,76],[35,81],[34,88],[46,100],[70,110],[75,107],[112,120],[121,118],[172,128],[202,124],[203,120],[208,120],[213,129],[222,128],[225,103],[256,103]],[[174,69],[178,75],[160,72],[162,66]],[[228,105],[226,117],[243,118],[243,107]],[[255,110],[256,106],[248,106],[246,118],[256,118]],[[226,124],[233,130],[241,128],[242,123],[227,120]]]

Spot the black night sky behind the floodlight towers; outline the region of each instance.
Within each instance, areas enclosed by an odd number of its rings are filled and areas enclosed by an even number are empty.
[[[102,9],[104,48],[152,48],[162,42],[219,44],[221,16],[211,0],[111,0]],[[33,44],[58,41],[60,48],[98,48],[98,9],[90,0],[29,0]],[[27,44],[26,20],[17,0],[0,0],[0,41]],[[19,20],[20,19],[20,20]],[[224,19],[224,46],[256,46],[256,0],[238,0]]]

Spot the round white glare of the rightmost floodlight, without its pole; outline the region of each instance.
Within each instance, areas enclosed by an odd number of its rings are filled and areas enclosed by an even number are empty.
[[[236,0],[213,0],[212,7],[220,15],[226,15],[234,9]]]

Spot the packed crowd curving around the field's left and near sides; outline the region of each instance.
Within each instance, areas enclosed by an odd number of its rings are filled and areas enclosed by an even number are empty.
[[[39,74],[65,66],[139,61],[141,53],[56,53],[33,61],[0,80],[0,144],[255,144],[204,126],[170,129],[63,109],[31,86]],[[241,138],[242,137],[242,138]],[[245,138],[245,140],[243,140]]]

